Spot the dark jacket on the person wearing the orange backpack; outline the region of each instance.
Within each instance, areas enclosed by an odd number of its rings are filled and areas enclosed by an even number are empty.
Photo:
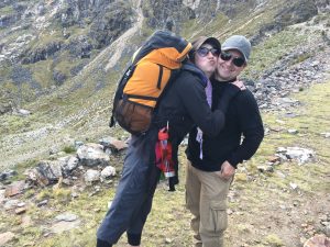
[[[164,92],[156,109],[153,126],[161,130],[168,122],[176,169],[178,165],[177,150],[184,137],[194,126],[199,126],[209,136],[217,136],[224,126],[223,112],[227,111],[230,100],[240,92],[238,87],[228,86],[223,90],[224,97],[213,103],[212,111],[207,103],[206,82],[207,78],[201,70],[194,65],[185,65],[173,85]]]

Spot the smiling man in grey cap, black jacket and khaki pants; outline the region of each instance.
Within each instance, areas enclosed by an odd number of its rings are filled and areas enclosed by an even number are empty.
[[[212,108],[226,94],[223,90],[245,69],[250,52],[251,44],[244,36],[234,35],[223,43],[212,79]],[[198,130],[189,133],[186,202],[194,215],[191,228],[196,246],[223,246],[227,195],[235,168],[255,154],[263,136],[258,108],[249,90],[240,91],[230,101],[224,127],[216,137],[204,134],[200,145]]]

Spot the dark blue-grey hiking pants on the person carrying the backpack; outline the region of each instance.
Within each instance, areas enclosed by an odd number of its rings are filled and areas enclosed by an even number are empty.
[[[127,232],[129,244],[140,245],[161,175],[150,161],[154,160],[153,156],[154,145],[151,142],[146,142],[144,136],[132,136],[114,199],[97,232],[99,239],[116,244]],[[138,236],[138,243],[130,243],[130,235]]]

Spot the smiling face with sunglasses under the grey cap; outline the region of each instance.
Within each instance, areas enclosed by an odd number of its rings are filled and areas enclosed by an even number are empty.
[[[237,78],[245,67],[246,63],[240,52],[235,49],[222,52],[218,59],[216,79],[222,81],[232,80]]]

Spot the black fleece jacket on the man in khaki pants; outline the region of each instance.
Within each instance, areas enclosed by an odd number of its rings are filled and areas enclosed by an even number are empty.
[[[212,108],[226,97],[229,82],[212,79]],[[237,168],[239,162],[250,159],[257,150],[264,128],[256,101],[251,91],[240,91],[229,103],[224,127],[216,136],[204,135],[202,159],[200,144],[196,141],[197,130],[189,133],[187,158],[193,166],[204,171],[218,171],[223,161]]]

